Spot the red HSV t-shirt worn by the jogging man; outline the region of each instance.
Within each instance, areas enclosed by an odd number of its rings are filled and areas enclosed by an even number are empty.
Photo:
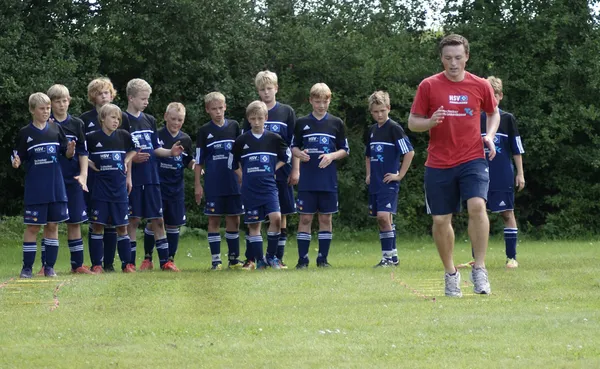
[[[480,114],[482,110],[493,113],[496,105],[489,82],[469,72],[465,72],[465,78],[460,82],[450,81],[443,72],[424,79],[410,112],[431,117],[440,106],[446,112],[442,123],[429,130],[425,166],[452,168],[485,158]]]

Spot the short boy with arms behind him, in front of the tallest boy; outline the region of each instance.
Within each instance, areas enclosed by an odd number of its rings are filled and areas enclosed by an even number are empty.
[[[242,182],[244,221],[248,225],[250,255],[256,260],[256,269],[281,269],[277,246],[281,232],[281,212],[275,172],[288,162],[288,147],[281,136],[265,130],[269,110],[262,101],[253,101],[246,108],[246,119],[251,130],[239,136],[233,145],[231,167],[239,165],[236,174]],[[261,224],[269,218],[267,255],[263,255]],[[253,269],[249,261],[247,269]]]

